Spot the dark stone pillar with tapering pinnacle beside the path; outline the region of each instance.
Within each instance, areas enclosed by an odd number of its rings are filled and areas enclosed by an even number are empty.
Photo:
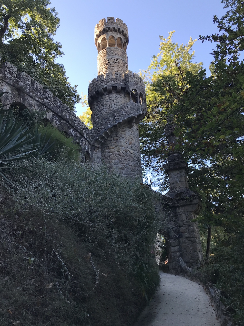
[[[191,268],[198,267],[203,259],[197,222],[192,221],[202,206],[197,195],[189,189],[186,162],[180,152],[174,151],[176,138],[173,131],[174,126],[170,123],[165,126],[172,151],[164,166],[169,175],[169,192],[163,200],[172,212],[167,232],[169,271],[179,274],[180,257]]]

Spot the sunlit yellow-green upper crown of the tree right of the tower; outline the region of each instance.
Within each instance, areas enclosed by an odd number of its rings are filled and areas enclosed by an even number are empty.
[[[178,66],[180,65],[184,72],[191,71],[194,74],[202,69],[202,62],[198,64],[192,62],[195,51],[190,53],[196,40],[192,40],[190,37],[186,45],[178,45],[178,43],[173,42],[174,32],[169,32],[167,39],[159,36],[162,40],[159,53],[153,55],[153,60],[149,67],[140,72],[145,81],[147,106],[149,109],[148,118],[150,121],[156,122],[158,120],[157,115],[155,115],[155,109],[162,107],[165,110],[170,104],[175,102],[178,85],[182,85],[182,76],[179,74]],[[158,79],[163,84],[162,89],[164,89],[164,92],[161,94],[153,86],[153,83],[157,82]]]

